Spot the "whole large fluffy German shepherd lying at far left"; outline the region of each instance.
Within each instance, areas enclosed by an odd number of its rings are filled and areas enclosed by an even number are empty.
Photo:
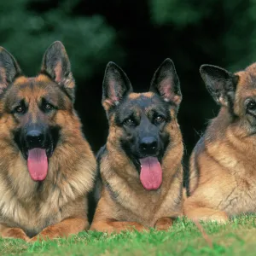
[[[36,241],[88,228],[96,160],[73,109],[74,86],[61,42],[35,78],[0,48],[0,237]]]

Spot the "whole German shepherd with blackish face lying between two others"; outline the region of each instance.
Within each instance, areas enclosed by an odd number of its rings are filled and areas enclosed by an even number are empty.
[[[132,92],[124,71],[109,62],[102,105],[109,134],[98,156],[102,191],[91,230],[167,230],[183,211],[183,140],[177,124],[179,79],[166,59],[150,90]]]

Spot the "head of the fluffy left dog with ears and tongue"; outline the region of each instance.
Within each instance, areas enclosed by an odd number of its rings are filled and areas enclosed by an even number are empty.
[[[63,113],[73,112],[74,81],[60,42],[45,52],[41,73],[22,75],[15,58],[0,49],[0,119],[9,144],[27,161],[33,180],[47,175],[48,161],[61,143]]]

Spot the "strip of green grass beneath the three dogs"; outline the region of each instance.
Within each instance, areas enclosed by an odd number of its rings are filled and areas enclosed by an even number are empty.
[[[0,239],[0,255],[255,255],[256,216],[234,218],[229,224],[202,224],[212,241],[187,219],[179,219],[168,232],[150,230],[108,236],[81,232],[78,236],[27,244]]]

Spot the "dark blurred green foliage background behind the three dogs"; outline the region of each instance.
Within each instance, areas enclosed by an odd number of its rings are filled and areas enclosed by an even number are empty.
[[[235,72],[256,61],[256,0],[1,0],[0,35],[26,75],[38,73],[44,50],[62,41],[78,86],[75,107],[95,152],[108,134],[101,106],[108,61],[143,91],[172,58],[183,91],[178,119],[187,165],[207,120],[218,113],[199,67]]]

